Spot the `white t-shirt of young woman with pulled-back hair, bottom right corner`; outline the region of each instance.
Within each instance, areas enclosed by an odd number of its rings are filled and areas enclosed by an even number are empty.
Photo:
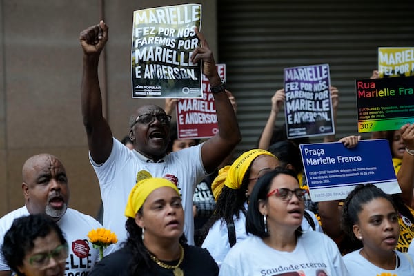
[[[355,250],[344,256],[344,263],[346,269],[348,269],[349,275],[366,275],[366,276],[377,276],[377,275],[392,275],[392,276],[411,276],[414,275],[414,263],[411,257],[406,253],[401,253],[395,250],[398,259],[400,259],[400,266],[394,270],[386,270],[375,266],[365,259],[359,252],[362,249]]]

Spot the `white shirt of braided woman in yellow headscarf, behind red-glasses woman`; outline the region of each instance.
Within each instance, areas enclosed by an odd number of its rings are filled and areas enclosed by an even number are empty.
[[[247,203],[244,204],[244,208],[247,209]],[[313,223],[315,224],[315,230],[322,233],[322,228],[319,226],[315,214],[311,211],[305,210],[313,218]],[[236,244],[248,237],[246,233],[246,216],[242,211],[239,213],[239,219],[236,219],[236,216],[233,216],[233,221],[235,223],[235,232],[236,232]],[[302,230],[303,231],[312,231],[312,226],[309,224],[307,219],[302,219]],[[210,255],[213,257],[215,262],[221,266],[221,263],[226,257],[228,251],[230,250],[230,242],[228,242],[228,228],[227,224],[223,219],[215,221],[215,224],[211,226],[208,230],[206,239],[204,239],[202,248],[206,248]]]

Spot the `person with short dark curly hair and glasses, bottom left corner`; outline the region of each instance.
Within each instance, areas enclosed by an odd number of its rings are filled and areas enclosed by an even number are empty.
[[[65,275],[68,244],[59,226],[46,215],[14,219],[1,250],[19,276]]]

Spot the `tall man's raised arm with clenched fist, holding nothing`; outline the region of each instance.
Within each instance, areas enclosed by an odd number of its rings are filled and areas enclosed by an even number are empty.
[[[112,150],[112,132],[102,115],[101,88],[99,88],[99,56],[108,41],[108,26],[103,21],[83,30],[79,40],[83,49],[83,76],[81,102],[83,125],[88,137],[92,159],[98,164],[108,159]]]

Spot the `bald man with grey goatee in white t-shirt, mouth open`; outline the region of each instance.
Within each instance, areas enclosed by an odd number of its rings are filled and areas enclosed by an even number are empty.
[[[25,205],[0,219],[0,243],[17,217],[46,213],[57,222],[68,241],[66,275],[87,275],[99,258],[99,250],[88,242],[88,232],[101,228],[93,217],[68,208],[69,186],[66,170],[57,157],[40,154],[30,157],[23,165],[21,188]],[[112,250],[108,249],[107,254]],[[0,276],[11,275],[10,268],[0,258]]]

